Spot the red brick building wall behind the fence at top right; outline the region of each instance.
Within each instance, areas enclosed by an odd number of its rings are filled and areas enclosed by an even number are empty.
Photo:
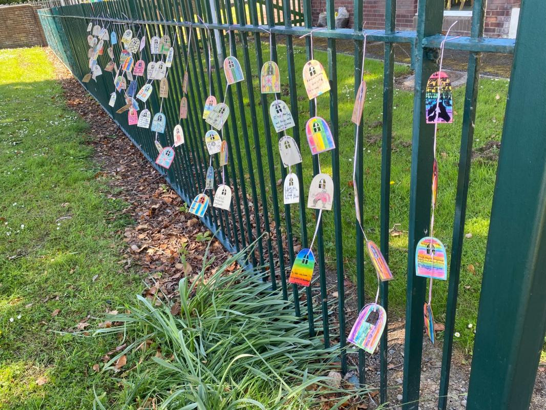
[[[396,1],[396,29],[414,30],[415,14],[417,13],[418,0],[394,0]],[[510,19],[513,7],[520,7],[521,0],[488,0],[485,11],[485,37],[508,37]],[[335,0],[335,8],[345,7],[349,12],[349,27],[353,27],[353,1]],[[313,26],[317,25],[318,15],[326,8],[326,0],[311,0]],[[471,17],[445,17],[444,28],[458,20],[456,34],[470,35]],[[366,28],[385,27],[385,0],[364,0],[363,21]]]

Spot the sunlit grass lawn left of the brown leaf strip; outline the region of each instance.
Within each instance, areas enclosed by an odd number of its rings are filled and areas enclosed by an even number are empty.
[[[0,65],[0,409],[92,408],[93,385],[116,385],[92,366],[117,340],[56,331],[138,292],[116,263],[129,221],[105,221],[125,206],[94,179],[86,124],[44,51],[0,50]]]

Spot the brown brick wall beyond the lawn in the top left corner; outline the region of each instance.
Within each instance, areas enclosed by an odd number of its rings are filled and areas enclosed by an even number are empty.
[[[0,7],[0,49],[48,45],[38,9],[31,4]]]

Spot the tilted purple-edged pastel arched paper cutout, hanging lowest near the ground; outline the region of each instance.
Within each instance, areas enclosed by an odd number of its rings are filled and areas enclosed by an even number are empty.
[[[387,312],[377,303],[364,306],[351,329],[347,340],[367,353],[373,354],[385,330]]]

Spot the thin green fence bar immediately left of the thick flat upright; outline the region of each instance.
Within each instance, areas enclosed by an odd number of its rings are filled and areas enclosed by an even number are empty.
[[[396,2],[385,3],[385,32],[396,30]],[[385,43],[383,64],[383,139],[381,146],[381,252],[389,262],[389,212],[390,212],[390,154],[393,138],[393,90],[394,90],[394,46]],[[389,283],[379,284],[381,306],[387,312],[385,330],[379,345],[379,371],[381,403],[387,402],[387,349],[389,337]]]

